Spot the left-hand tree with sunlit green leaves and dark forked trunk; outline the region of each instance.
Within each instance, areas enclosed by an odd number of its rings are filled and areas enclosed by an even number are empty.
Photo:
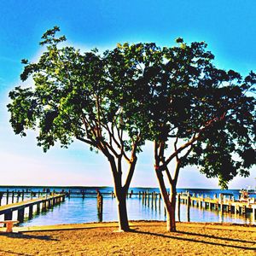
[[[66,38],[57,38],[58,31],[55,26],[44,33],[40,44],[46,49],[38,62],[22,60],[20,79],[32,77],[34,86],[19,86],[9,93],[10,123],[21,136],[37,129],[38,146],[44,152],[56,142],[67,148],[74,139],[102,152],[113,174],[119,230],[129,230],[125,195],[144,143],[133,114],[141,103],[131,99],[131,90],[136,92],[132,67],[118,50],[101,56],[96,49],[81,54],[73,47],[61,47]]]

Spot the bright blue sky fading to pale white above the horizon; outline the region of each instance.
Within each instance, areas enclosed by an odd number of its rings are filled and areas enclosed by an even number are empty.
[[[21,85],[21,59],[36,60],[39,41],[53,26],[61,27],[67,44],[79,49],[113,49],[117,43],[155,42],[172,46],[175,38],[205,41],[219,68],[243,76],[256,72],[255,0],[1,0],[0,1],[0,185],[112,186],[102,154],[83,143],[58,146],[45,154],[35,132],[15,135],[9,125],[9,91]],[[131,186],[157,187],[152,144],[139,154]],[[236,177],[230,189],[256,185],[256,168]],[[177,187],[218,189],[196,167],[181,171]]]

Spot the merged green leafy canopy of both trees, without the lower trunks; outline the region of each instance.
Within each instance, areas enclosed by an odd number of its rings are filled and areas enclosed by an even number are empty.
[[[199,166],[223,187],[248,175],[256,162],[255,73],[242,79],[214,67],[204,42],[125,43],[103,55],[97,49],[81,54],[61,48],[66,38],[56,37],[59,30],[44,33],[38,62],[21,61],[20,79],[32,76],[35,85],[9,93],[15,133],[38,127],[44,151],[77,138],[115,156],[139,152],[151,140],[164,145],[158,155],[164,167],[173,159],[180,167]],[[170,139],[177,148],[168,158]]]

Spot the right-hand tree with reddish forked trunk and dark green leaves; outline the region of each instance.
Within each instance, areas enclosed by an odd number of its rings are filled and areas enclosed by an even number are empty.
[[[222,188],[256,163],[256,74],[242,80],[232,70],[213,66],[207,44],[163,48],[157,75],[148,83],[154,170],[165,202],[167,230],[176,231],[177,178],[181,168],[196,165],[207,177],[218,177]],[[155,65],[155,63],[154,63]],[[154,65],[152,68],[155,70]],[[169,166],[175,162],[173,172]],[[170,196],[164,179],[171,188]]]

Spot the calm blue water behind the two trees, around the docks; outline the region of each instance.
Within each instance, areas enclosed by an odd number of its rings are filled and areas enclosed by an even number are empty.
[[[21,190],[24,188],[7,188],[1,187],[0,190],[4,191],[6,189],[11,190]],[[28,188],[32,191],[38,191],[42,188]],[[56,191],[61,190],[62,188],[52,188]],[[67,188],[64,188],[68,190]],[[81,188],[73,188],[73,191],[80,191]],[[83,188],[85,192],[96,192],[96,188]],[[113,189],[110,187],[99,188],[101,192],[111,192]],[[148,190],[149,192],[156,191],[158,189],[142,189],[142,188],[133,188],[134,193],[138,191]],[[230,190],[218,190],[218,189],[177,189],[177,192],[189,191],[190,194],[199,194],[199,195],[208,195],[213,197],[215,194],[219,193],[232,193],[235,196],[235,199],[238,199],[239,191],[236,189]],[[22,226],[33,226],[33,225],[48,225],[48,224],[75,224],[75,223],[89,223],[89,222],[99,222],[99,221],[116,221],[117,218],[117,209],[116,201],[108,195],[103,196],[103,213],[102,218],[97,214],[96,206],[96,197],[71,197],[67,198],[65,202],[61,203],[58,206],[55,206],[52,209],[49,209],[47,212],[40,213],[39,215],[34,216],[30,220],[26,220]],[[2,200],[2,205],[4,204],[4,198]],[[28,210],[26,210],[28,211]],[[130,220],[166,220],[165,211],[163,202],[159,204],[159,200],[156,201],[156,204],[151,200],[147,204],[143,204],[142,199],[138,199],[137,196],[127,199],[127,211],[128,217]],[[16,217],[16,212],[14,212],[13,218]],[[26,212],[28,214],[28,212]],[[186,205],[181,204],[181,221],[188,221],[188,211]],[[2,219],[3,216],[0,216]],[[190,207],[189,220],[191,222],[232,222],[239,224],[256,224],[253,219],[253,214],[247,213],[247,216],[239,216],[238,214],[224,213],[221,214],[218,211],[210,211],[205,209],[199,209],[197,207]]]

